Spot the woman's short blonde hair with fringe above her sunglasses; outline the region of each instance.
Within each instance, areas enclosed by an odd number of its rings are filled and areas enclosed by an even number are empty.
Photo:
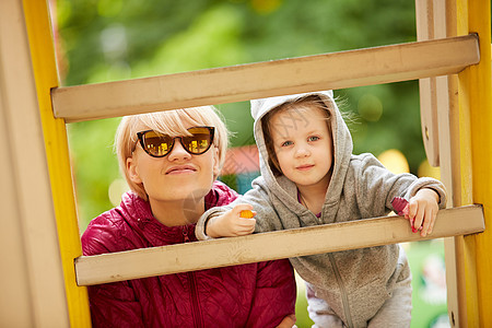
[[[137,148],[137,132],[144,126],[148,129],[166,133],[173,137],[188,136],[186,124],[191,126],[209,126],[215,128],[213,145],[219,153],[219,167],[225,161],[225,152],[229,143],[229,131],[221,114],[213,106],[192,107],[149,114],[125,116],[116,131],[115,152],[118,157],[119,169],[125,176],[130,189],[143,199],[148,199],[142,184],[131,181],[127,171],[127,159],[132,156]],[[214,176],[214,179],[216,176]]]

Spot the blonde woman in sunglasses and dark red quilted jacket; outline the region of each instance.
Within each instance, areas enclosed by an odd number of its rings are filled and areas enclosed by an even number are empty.
[[[131,191],[87,226],[83,254],[195,242],[207,209],[237,194],[215,181],[227,130],[211,107],[124,117],[116,134]],[[94,327],[292,327],[288,260],[136,279],[89,288]]]

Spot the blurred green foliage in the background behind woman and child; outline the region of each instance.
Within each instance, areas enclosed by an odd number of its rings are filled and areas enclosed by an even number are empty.
[[[414,2],[407,0],[57,0],[56,4],[62,85],[415,40]],[[339,90],[336,96],[350,114],[354,153],[378,155],[398,149],[417,174],[425,159],[417,81]],[[234,147],[254,143],[248,106],[218,104],[235,132]],[[68,127],[81,231],[114,207],[108,189],[120,178],[113,153],[118,122],[114,118]],[[305,300],[300,300],[297,325],[307,327]]]

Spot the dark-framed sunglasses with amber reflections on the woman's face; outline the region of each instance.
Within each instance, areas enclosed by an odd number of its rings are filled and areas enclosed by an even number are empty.
[[[206,153],[213,142],[213,127],[195,127],[187,130],[191,136],[171,137],[154,130],[147,130],[137,133],[142,149],[152,157],[164,157],[174,147],[174,141],[179,138],[183,148],[192,155]]]

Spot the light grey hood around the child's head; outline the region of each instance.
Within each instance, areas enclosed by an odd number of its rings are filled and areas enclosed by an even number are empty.
[[[331,90],[309,92],[309,93],[269,97],[262,99],[251,99],[250,102],[251,116],[255,119],[254,134],[259,151],[261,175],[265,178],[265,181],[268,184],[272,194],[274,194],[280,198],[286,198],[284,199],[284,201],[292,201],[292,199],[294,201],[297,201],[296,186],[283,175],[277,177],[274,176],[273,171],[270,167],[268,161],[268,152],[265,142],[265,134],[261,126],[261,120],[267,113],[279,107],[280,105],[283,105],[285,103],[293,103],[312,95],[319,96],[319,98],[325,104],[327,110],[329,112],[330,117],[329,122],[333,140],[335,159],[333,159],[331,181],[329,186],[330,192],[328,194],[330,194],[329,197],[330,199],[331,198],[337,199],[339,194],[341,192],[342,181],[349,166],[353,147],[349,128],[347,127],[340,114],[340,110],[333,99],[333,92]],[[306,119],[308,118],[306,117]],[[333,184],[333,180],[338,180],[338,183]],[[328,198],[327,201],[329,201]]]

